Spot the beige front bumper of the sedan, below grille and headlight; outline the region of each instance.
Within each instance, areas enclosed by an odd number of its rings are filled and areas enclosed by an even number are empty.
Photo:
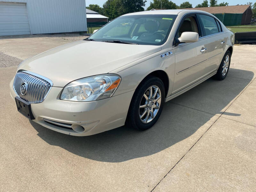
[[[11,96],[17,95],[10,82]],[[88,136],[123,126],[134,91],[90,102],[60,100],[62,87],[52,87],[42,103],[31,104],[34,122],[57,132]],[[45,121],[50,120],[50,121]],[[49,122],[72,125],[71,128]],[[80,129],[81,126],[83,129]]]

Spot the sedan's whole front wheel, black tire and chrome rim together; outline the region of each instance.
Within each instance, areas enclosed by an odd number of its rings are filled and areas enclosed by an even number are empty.
[[[150,100],[151,87],[151,95],[153,96],[152,100]],[[148,100],[144,96],[144,93],[148,97]],[[144,131],[152,127],[162,113],[164,98],[164,84],[161,79],[155,76],[149,76],[144,79],[139,84],[132,96],[131,104],[126,118],[126,125],[140,131]],[[140,108],[140,106],[143,108]],[[142,116],[144,113],[146,114]]]

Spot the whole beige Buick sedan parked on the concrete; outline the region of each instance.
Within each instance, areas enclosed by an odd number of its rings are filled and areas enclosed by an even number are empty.
[[[11,96],[21,114],[57,132],[87,136],[124,124],[147,130],[164,102],[212,76],[224,80],[233,44],[234,34],[207,12],[129,13],[24,60]]]

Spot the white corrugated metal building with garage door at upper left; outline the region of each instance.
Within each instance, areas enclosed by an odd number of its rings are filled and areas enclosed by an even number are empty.
[[[87,31],[85,0],[0,0],[0,36]]]

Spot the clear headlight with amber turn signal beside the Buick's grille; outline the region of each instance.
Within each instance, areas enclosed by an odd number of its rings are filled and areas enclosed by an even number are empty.
[[[61,100],[95,101],[111,97],[121,82],[121,77],[114,74],[97,75],[78,79],[67,84]]]

